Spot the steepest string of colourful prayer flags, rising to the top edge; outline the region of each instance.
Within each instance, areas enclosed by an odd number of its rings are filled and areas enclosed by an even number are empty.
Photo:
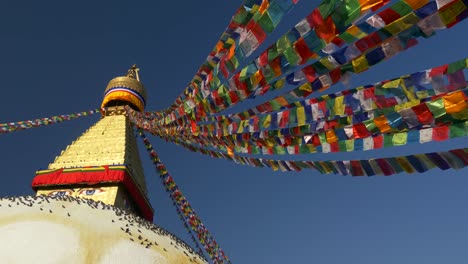
[[[244,1],[231,19],[206,61],[189,85],[166,111],[184,105],[206,83],[219,80],[219,73],[236,70],[255,51],[299,0]]]

